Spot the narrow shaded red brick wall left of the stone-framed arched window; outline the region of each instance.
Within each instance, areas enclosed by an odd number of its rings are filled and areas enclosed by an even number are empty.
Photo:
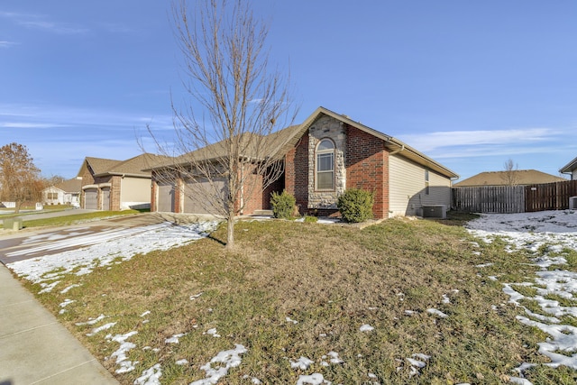
[[[308,133],[289,151],[285,161],[285,189],[297,199],[300,214],[305,214],[308,206]]]

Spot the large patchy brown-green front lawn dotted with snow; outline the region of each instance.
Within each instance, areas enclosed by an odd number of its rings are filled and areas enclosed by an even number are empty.
[[[546,362],[545,337],[517,322],[521,310],[481,264],[511,280],[535,269],[527,252],[450,224],[242,222],[235,252],[221,225],[69,274],[38,298],[124,384],[505,383],[521,362]],[[563,368],[537,374],[574,380]]]

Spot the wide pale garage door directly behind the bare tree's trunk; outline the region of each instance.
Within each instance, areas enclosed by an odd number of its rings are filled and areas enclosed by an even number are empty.
[[[218,209],[211,205],[215,202],[215,195],[226,197],[225,179],[215,179],[214,188],[206,179],[185,184],[184,212],[193,214],[221,214]]]

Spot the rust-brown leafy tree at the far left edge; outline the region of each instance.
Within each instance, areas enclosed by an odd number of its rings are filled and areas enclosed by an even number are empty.
[[[18,143],[0,147],[0,200],[15,202],[16,213],[26,201],[36,201],[43,183],[26,146]]]

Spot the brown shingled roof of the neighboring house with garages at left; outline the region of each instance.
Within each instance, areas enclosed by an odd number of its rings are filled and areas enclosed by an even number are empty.
[[[146,171],[151,167],[166,160],[168,157],[143,153],[129,160],[112,160],[103,158],[87,157],[86,162],[94,172],[95,177],[106,175],[121,175],[127,177],[150,177],[151,172]]]

